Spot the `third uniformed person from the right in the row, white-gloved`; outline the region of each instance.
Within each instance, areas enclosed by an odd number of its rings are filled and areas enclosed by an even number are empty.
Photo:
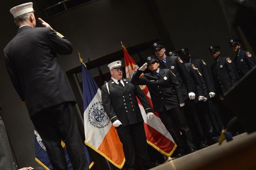
[[[206,125],[208,128],[208,134],[213,134],[213,128],[215,134],[220,134],[221,130],[223,129],[223,123],[221,121],[221,117],[219,114],[219,109],[217,106],[217,103],[215,101],[215,88],[214,83],[212,80],[212,75],[210,74],[206,62],[203,59],[191,59],[190,52],[188,48],[183,48],[179,52],[180,58],[185,63],[193,63],[194,67],[198,69],[198,73],[200,73],[201,83],[204,88],[204,95],[206,98],[203,100],[204,102],[198,102],[197,103],[197,109],[200,114],[200,112],[207,112],[206,116],[207,119],[210,118],[210,122]],[[204,115],[204,114],[200,114]],[[212,136],[212,135],[210,135]],[[216,136],[216,135],[213,135]],[[216,140],[215,137],[213,137],[211,143],[214,143]]]

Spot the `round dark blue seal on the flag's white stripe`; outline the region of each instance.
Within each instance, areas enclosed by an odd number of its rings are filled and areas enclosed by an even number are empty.
[[[104,128],[110,124],[110,119],[104,112],[102,102],[95,102],[91,105],[88,114],[89,122],[95,128]]]

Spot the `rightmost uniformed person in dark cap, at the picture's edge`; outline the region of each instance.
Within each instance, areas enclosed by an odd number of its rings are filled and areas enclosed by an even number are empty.
[[[256,61],[254,56],[248,51],[241,50],[240,40],[231,39],[230,47],[235,53],[234,63],[237,66],[237,71],[239,77],[244,76],[250,69],[252,69],[256,65]]]

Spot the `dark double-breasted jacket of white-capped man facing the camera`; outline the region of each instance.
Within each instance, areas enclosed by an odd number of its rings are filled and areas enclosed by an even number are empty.
[[[129,79],[123,79],[125,86],[120,87],[112,79],[102,86],[103,107],[111,122],[119,120],[122,126],[143,122],[136,96],[146,113],[152,112],[149,101],[139,86],[134,86]]]

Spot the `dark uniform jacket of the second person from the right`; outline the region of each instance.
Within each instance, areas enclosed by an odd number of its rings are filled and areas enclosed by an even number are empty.
[[[237,69],[230,58],[220,56],[211,66],[211,71],[215,88],[220,95],[223,95],[238,81]]]

